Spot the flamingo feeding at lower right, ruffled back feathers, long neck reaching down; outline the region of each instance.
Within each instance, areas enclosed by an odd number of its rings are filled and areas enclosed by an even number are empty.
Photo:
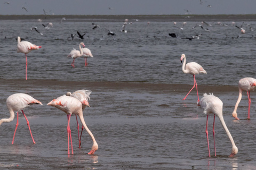
[[[215,138],[214,138],[214,122],[215,122],[215,115],[217,115],[220,119],[220,123],[223,127],[223,129],[226,131],[229,140],[231,141],[232,144],[232,150],[231,150],[231,154],[229,155],[229,157],[234,157],[237,152],[238,152],[238,148],[235,145],[235,142],[227,128],[227,125],[224,121],[224,118],[222,116],[222,106],[223,103],[222,101],[218,98],[213,96],[213,94],[207,95],[204,94],[204,97],[197,102],[197,108],[201,108],[204,112],[204,114],[207,114],[207,118],[206,118],[206,138],[207,138],[207,144],[208,144],[208,151],[209,151],[209,157],[211,157],[210,155],[210,147],[209,147],[209,138],[208,138],[208,130],[207,130],[207,125],[208,125],[208,116],[209,114],[213,113],[214,118],[213,118],[213,141],[214,141],[214,152],[215,152],[215,156],[216,156],[216,148],[215,148]]]

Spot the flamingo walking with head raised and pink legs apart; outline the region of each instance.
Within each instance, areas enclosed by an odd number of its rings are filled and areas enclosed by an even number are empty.
[[[196,86],[196,92],[197,92],[197,99],[199,101],[199,96],[198,96],[198,90],[197,90],[197,83],[196,83],[196,79],[195,79],[195,74],[199,74],[199,73],[204,73],[207,74],[206,71],[203,69],[203,67],[195,62],[191,62],[191,63],[187,63],[186,64],[186,55],[182,54],[180,61],[182,63],[182,60],[184,59],[184,62],[182,64],[182,71],[183,73],[189,73],[192,74],[194,77],[194,86],[191,88],[194,89],[194,87]],[[185,66],[186,65],[186,66]],[[190,90],[190,91],[191,91]],[[188,92],[188,94],[190,93],[190,91]],[[187,96],[188,96],[187,94]],[[187,96],[185,96],[185,98],[183,98],[182,100],[185,100],[187,98]]]

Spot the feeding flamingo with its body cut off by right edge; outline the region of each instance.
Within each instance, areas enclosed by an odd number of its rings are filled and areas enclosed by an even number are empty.
[[[243,91],[247,91],[247,96],[248,96],[248,100],[249,100],[249,107],[248,107],[248,116],[247,119],[250,120],[250,107],[251,107],[251,95],[250,95],[250,91],[253,91],[256,87],[256,79],[253,78],[243,78],[240,79],[238,82],[238,88],[239,88],[239,95],[238,95],[238,99],[236,101],[236,105],[235,105],[235,109],[232,113],[232,116],[235,117],[236,120],[239,120],[239,118],[237,117],[237,107],[242,99],[242,92]]]

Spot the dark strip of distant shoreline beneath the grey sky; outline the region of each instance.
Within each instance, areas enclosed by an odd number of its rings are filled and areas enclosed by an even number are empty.
[[[0,20],[51,20],[65,17],[70,19],[84,19],[86,21],[100,20],[119,22],[124,19],[143,21],[256,21],[256,14],[246,15],[0,15]]]

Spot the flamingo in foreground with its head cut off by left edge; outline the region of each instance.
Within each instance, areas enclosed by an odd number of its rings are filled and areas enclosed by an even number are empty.
[[[6,105],[7,105],[7,108],[9,110],[9,112],[10,112],[10,118],[2,118],[0,120],[0,125],[2,123],[4,123],[4,122],[11,122],[11,121],[13,121],[13,119],[14,119],[14,111],[17,111],[17,124],[16,124],[16,128],[15,128],[15,131],[14,131],[14,134],[13,134],[12,144],[14,142],[15,133],[16,133],[16,130],[17,130],[18,125],[19,125],[19,112],[20,111],[23,113],[24,117],[26,118],[28,129],[30,131],[33,143],[34,144],[36,143],[34,141],[33,135],[32,135],[31,130],[30,130],[29,121],[28,121],[25,113],[23,112],[23,109],[25,107],[27,107],[29,105],[32,105],[32,104],[43,105],[40,101],[34,99],[33,97],[31,97],[31,96],[29,96],[27,94],[13,94],[13,95],[9,96],[6,99]]]

